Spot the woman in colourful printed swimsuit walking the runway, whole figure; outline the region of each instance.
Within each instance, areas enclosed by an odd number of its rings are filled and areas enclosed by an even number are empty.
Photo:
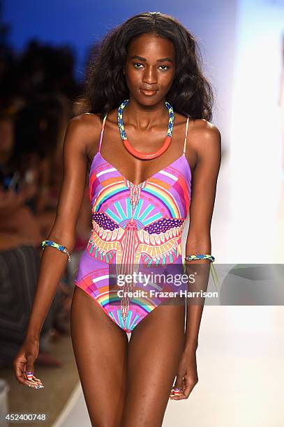
[[[186,267],[214,261],[221,134],[209,121],[213,96],[200,58],[173,17],[135,15],[103,39],[87,76],[88,110],[68,123],[57,216],[14,368],[21,384],[42,387],[33,375],[38,336],[74,248],[89,173],[93,229],[75,278],[71,337],[92,426],[161,426],[169,398],[188,398],[197,384],[203,305],[164,304],[151,293],[156,283],[121,288],[111,277],[180,272],[188,213]]]

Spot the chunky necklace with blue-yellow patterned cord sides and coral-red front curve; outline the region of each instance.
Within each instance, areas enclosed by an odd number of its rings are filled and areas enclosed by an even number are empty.
[[[119,109],[117,110],[117,123],[119,125],[119,131],[121,135],[121,139],[124,142],[124,147],[126,147],[127,151],[129,151],[130,154],[137,158],[141,158],[143,160],[148,160],[150,158],[156,158],[160,156],[161,154],[165,153],[167,147],[169,147],[170,142],[172,140],[172,128],[174,127],[174,110],[172,106],[165,101],[165,106],[167,107],[167,110],[169,112],[169,123],[167,125],[167,136],[165,137],[165,141],[157,151],[153,151],[152,153],[141,153],[140,151],[135,150],[133,147],[131,147],[130,142],[128,141],[126,137],[126,131],[124,129],[124,121],[122,119],[122,112],[124,110],[124,107],[128,104],[128,99],[124,100],[121,105],[119,105]]]

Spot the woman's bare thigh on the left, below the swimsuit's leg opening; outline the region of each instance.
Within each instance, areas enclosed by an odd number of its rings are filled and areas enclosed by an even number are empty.
[[[97,301],[75,286],[71,337],[92,426],[119,427],[124,405],[128,338]]]

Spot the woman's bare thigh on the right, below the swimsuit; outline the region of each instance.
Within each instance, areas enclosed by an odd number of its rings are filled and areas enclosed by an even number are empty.
[[[133,330],[128,347],[124,427],[162,426],[184,350],[185,306],[156,307]]]

